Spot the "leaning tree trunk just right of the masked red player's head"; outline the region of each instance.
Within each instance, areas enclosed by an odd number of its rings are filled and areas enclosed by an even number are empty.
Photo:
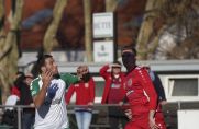
[[[164,0],[147,0],[146,2],[144,21],[142,22],[136,43],[137,59],[147,59],[147,46],[153,33],[153,24],[155,19],[158,16],[158,11],[163,3]]]

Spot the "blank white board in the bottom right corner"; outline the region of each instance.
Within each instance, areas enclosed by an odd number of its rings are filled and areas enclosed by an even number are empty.
[[[178,110],[178,129],[199,129],[199,110]]]

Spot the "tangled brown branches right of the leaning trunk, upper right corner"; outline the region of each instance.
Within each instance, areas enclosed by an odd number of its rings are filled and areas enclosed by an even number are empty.
[[[159,12],[165,24],[155,37],[155,59],[198,59],[199,2],[167,0]]]

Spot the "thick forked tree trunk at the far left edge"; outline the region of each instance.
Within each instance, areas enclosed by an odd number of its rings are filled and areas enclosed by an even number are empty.
[[[0,32],[3,35],[3,38],[0,38],[0,84],[3,103],[10,94],[10,85],[13,84],[13,77],[18,71],[16,32],[21,23],[23,0],[15,2],[15,13],[11,12],[9,14],[10,28],[8,34],[5,35],[4,28]]]

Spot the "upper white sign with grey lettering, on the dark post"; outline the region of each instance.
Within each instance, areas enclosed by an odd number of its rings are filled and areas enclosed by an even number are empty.
[[[113,13],[95,13],[92,21],[95,38],[113,37]]]

